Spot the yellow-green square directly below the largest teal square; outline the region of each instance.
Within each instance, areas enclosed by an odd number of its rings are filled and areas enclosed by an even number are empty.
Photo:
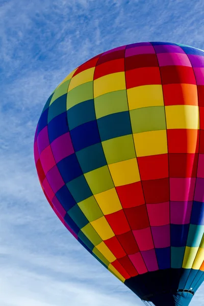
[[[132,134],[103,141],[102,145],[108,164],[136,157]]]

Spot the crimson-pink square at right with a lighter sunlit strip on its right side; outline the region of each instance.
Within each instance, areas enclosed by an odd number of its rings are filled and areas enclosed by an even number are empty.
[[[195,177],[183,179],[170,177],[170,200],[171,201],[192,201],[195,188]]]

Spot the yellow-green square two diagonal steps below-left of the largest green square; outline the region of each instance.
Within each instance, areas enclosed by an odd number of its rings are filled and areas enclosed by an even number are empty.
[[[97,194],[114,187],[108,166],[85,173],[84,176],[93,194]]]

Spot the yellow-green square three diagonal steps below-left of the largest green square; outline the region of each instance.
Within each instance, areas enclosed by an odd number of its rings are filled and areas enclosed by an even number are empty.
[[[89,222],[104,216],[94,196],[91,196],[90,198],[78,203],[78,205],[80,209],[83,211],[86,218],[89,220]]]

